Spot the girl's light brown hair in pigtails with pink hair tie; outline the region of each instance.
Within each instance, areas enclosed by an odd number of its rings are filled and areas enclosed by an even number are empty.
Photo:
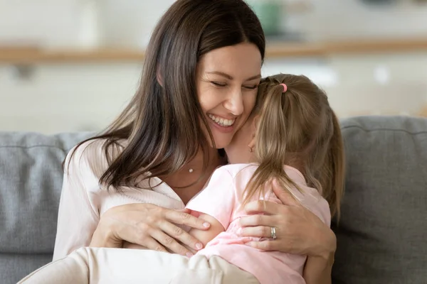
[[[288,87],[283,93],[283,86]],[[339,217],[344,190],[344,146],[337,116],[327,95],[305,76],[275,75],[260,82],[253,114],[259,114],[254,155],[260,164],[245,200],[263,193],[271,178],[297,187],[283,165],[302,169],[307,185],[319,190]]]

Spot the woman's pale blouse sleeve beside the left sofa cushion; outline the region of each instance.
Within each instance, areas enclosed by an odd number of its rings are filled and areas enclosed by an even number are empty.
[[[75,249],[89,246],[99,222],[99,214],[85,185],[89,168],[88,158],[83,156],[86,153],[83,152],[85,146],[81,145],[73,158],[70,155],[74,149],[65,158],[53,261],[67,256]]]

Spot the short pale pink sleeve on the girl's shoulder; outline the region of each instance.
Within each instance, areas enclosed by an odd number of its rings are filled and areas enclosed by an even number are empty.
[[[209,184],[186,206],[192,211],[208,214],[228,228],[235,204],[235,185],[228,170],[218,168],[214,171]]]

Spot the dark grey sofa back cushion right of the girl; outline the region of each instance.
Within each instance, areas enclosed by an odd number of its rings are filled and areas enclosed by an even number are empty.
[[[427,119],[342,121],[347,178],[334,283],[426,283]]]

